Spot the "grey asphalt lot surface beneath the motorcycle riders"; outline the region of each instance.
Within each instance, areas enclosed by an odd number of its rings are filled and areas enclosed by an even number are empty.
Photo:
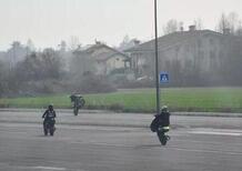
[[[241,171],[242,119],[172,117],[161,147],[152,115],[59,113],[54,137],[41,112],[0,112],[1,171]]]

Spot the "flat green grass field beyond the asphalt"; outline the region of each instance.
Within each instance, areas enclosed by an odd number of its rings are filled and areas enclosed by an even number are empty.
[[[114,93],[85,94],[87,109],[109,109],[123,112],[153,112],[154,89],[119,90]],[[0,107],[71,108],[69,94],[36,98],[0,99]],[[172,88],[161,89],[161,103],[173,111],[242,112],[242,88]]]

